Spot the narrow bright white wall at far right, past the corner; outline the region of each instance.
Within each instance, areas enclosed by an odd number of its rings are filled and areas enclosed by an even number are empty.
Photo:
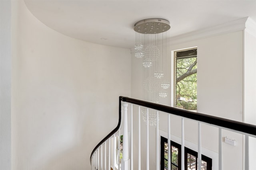
[[[253,28],[253,29],[252,29]],[[256,125],[256,23],[248,19],[244,31],[244,122]],[[256,169],[256,139],[249,137],[250,169]]]

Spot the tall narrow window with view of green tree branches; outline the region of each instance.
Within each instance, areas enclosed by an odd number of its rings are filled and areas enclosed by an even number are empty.
[[[197,110],[197,49],[175,51],[174,106]]]

